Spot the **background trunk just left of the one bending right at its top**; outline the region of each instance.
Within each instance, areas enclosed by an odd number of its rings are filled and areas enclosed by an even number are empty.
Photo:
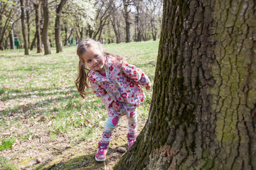
[[[43,0],[43,48],[45,50],[45,55],[50,55],[50,45],[48,39],[48,26],[49,26],[49,10],[48,10],[48,0]]]

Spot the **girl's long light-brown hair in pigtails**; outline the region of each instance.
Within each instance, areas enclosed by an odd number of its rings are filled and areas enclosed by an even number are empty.
[[[84,54],[86,50],[92,46],[99,47],[99,49],[103,52],[101,43],[95,40],[92,40],[91,38],[86,38],[85,40],[82,40],[78,44],[78,50],[77,50],[77,55],[79,57],[78,77],[75,80],[75,86],[77,87],[78,92],[80,93],[80,96],[82,96],[82,98],[85,98],[85,94],[91,93],[91,91],[87,92],[87,89],[90,89],[90,82],[89,82],[90,69],[87,69],[85,65],[85,61],[82,59],[82,54]],[[120,55],[112,55],[108,52],[103,52],[103,54],[106,57],[117,58],[119,62],[124,62],[124,58]]]

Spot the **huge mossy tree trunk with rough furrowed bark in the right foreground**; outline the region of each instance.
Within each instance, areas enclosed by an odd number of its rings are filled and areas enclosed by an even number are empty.
[[[114,169],[256,169],[255,5],[164,1],[149,120]]]

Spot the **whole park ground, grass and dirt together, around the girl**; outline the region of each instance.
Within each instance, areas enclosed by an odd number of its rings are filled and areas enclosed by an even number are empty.
[[[104,45],[154,82],[159,41]],[[76,47],[52,55],[0,51],[0,169],[112,169],[127,147],[127,120],[114,131],[105,163],[95,161],[107,120],[100,98],[80,97]],[[144,89],[144,88],[143,88]],[[138,132],[146,122],[152,89],[137,109]]]

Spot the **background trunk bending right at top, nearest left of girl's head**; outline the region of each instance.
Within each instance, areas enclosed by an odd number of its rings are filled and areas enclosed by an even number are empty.
[[[63,6],[68,0],[61,0],[58,8],[56,10],[56,18],[55,18],[55,44],[56,44],[56,52],[63,52],[61,35],[60,35],[60,19],[61,19],[61,11]]]

